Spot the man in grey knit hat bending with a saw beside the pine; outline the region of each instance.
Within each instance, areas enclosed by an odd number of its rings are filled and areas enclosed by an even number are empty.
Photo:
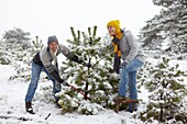
[[[91,67],[89,63],[87,64],[77,55],[73,54],[68,47],[64,46],[63,44],[58,44],[58,40],[55,35],[48,36],[47,45],[48,46],[42,47],[42,49],[34,56],[32,60],[31,82],[25,95],[25,111],[31,114],[34,114],[32,109],[32,100],[37,88],[37,82],[42,70],[45,71],[45,74],[48,76],[48,79],[52,80],[54,100],[56,106],[61,108],[61,104],[58,103],[59,97],[56,97],[55,94],[61,91],[61,84],[65,87],[69,87],[69,84],[65,79],[61,78],[58,72],[57,56],[59,54],[65,55],[69,60],[81,64],[88,68]]]

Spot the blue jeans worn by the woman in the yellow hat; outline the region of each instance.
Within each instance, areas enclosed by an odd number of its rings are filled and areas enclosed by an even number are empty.
[[[125,68],[120,68],[120,84],[119,94],[127,97],[127,89],[129,86],[130,99],[138,99],[136,91],[136,74],[138,70],[143,66],[143,63],[139,59],[133,59]],[[136,106],[135,106],[136,109]],[[129,110],[132,111],[132,103],[129,105]]]

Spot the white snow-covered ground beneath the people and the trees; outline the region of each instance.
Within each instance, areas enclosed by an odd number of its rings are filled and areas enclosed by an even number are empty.
[[[187,68],[187,61],[173,63],[179,63],[182,69]],[[139,104],[139,111],[134,113],[125,111],[116,113],[112,110],[105,110],[98,115],[79,113],[62,115],[61,110],[55,108],[53,102],[46,102],[42,99],[44,93],[40,89],[52,84],[50,81],[38,82],[36,92],[40,97],[35,98],[33,104],[36,114],[29,114],[24,110],[24,97],[29,83],[8,81],[13,72],[13,67],[0,65],[0,124],[143,124],[139,119],[132,119],[133,114],[139,114],[142,109],[145,109],[143,104]],[[144,89],[141,89],[141,91],[139,98],[146,102],[148,93]],[[45,120],[50,113],[50,117]]]

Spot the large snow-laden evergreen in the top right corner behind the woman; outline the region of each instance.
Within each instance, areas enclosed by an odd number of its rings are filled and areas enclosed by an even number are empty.
[[[141,30],[143,46],[154,48],[161,43],[168,42],[166,50],[174,53],[187,53],[187,1],[186,0],[153,0],[155,5],[163,7],[161,13],[147,21]],[[182,56],[184,56],[182,54]]]

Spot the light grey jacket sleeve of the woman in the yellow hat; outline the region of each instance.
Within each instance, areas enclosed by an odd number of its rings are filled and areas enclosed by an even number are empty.
[[[129,64],[132,59],[135,58],[135,56],[139,53],[139,43],[130,31],[125,33],[125,37],[127,37],[128,44],[130,45],[130,53],[125,59],[125,61]]]

